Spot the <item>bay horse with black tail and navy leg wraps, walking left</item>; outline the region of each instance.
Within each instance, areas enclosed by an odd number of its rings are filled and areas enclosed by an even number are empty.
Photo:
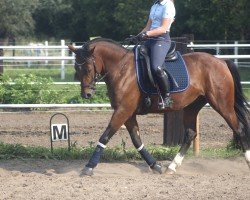
[[[201,52],[185,54],[183,59],[190,75],[189,87],[185,91],[171,94],[174,102],[171,108],[160,110],[158,96],[150,96],[152,105],[147,113],[164,113],[180,109],[183,109],[184,113],[184,141],[171,164],[164,169],[147,151],[140,138],[136,115],[145,114],[144,94],[137,83],[133,51],[110,39],[95,39],[86,42],[81,48],[72,45],[68,47],[76,56],[75,75],[81,82],[82,97],[88,99],[93,96],[97,76],[102,76],[114,109],[106,130],[82,171],[84,175],[93,174],[93,169],[99,163],[108,141],[123,124],[130,134],[134,147],[153,171],[175,173],[197,135],[197,114],[207,103],[233,130],[234,136],[238,138],[245,152],[245,159],[250,168],[250,115],[242,92],[240,76],[232,61]]]

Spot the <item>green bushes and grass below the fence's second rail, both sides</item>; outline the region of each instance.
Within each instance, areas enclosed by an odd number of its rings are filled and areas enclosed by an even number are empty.
[[[58,72],[58,69],[6,70],[0,80],[0,103],[49,104],[109,102],[105,85],[97,85],[94,97],[89,100],[81,97],[79,85],[54,85],[53,81],[60,81],[60,73]],[[249,69],[239,68],[239,72],[242,81],[249,80]],[[73,74],[74,69],[68,67],[66,70],[67,80],[64,81],[73,81]],[[15,85],[10,85],[10,82],[15,82]],[[249,88],[249,85],[243,85],[243,91],[247,99],[250,99]]]

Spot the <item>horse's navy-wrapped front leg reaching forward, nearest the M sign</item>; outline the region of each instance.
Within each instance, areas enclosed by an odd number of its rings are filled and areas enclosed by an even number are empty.
[[[121,110],[116,110],[109,122],[108,127],[101,135],[99,142],[92,154],[89,162],[86,164],[82,171],[82,175],[93,175],[93,169],[97,166],[100,161],[101,155],[103,154],[106,144],[110,138],[117,132],[117,130],[124,124],[124,122],[129,118],[129,114],[122,112]]]

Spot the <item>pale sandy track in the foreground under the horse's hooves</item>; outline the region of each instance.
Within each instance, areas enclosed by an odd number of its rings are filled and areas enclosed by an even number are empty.
[[[0,199],[242,199],[250,197],[243,159],[186,159],[173,176],[142,162],[101,163],[80,177],[82,161],[8,160],[0,163]]]

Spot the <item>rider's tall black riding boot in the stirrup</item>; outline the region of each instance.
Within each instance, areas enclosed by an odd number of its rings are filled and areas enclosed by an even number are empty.
[[[158,87],[160,89],[160,93],[163,99],[162,101],[159,102],[159,107],[161,109],[164,109],[166,107],[172,107],[173,100],[171,99],[169,93],[170,88],[169,88],[167,73],[161,67],[157,67],[156,76],[157,76]]]

